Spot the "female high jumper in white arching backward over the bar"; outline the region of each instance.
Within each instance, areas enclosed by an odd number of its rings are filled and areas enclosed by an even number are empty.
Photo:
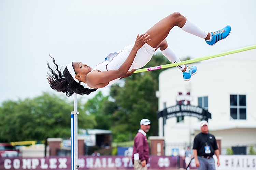
[[[52,89],[66,93],[67,96],[73,93],[88,95],[98,88],[109,86],[120,78],[132,75],[136,69],[142,68],[151,60],[158,48],[172,63],[180,62],[179,57],[175,55],[165,40],[174,26],[205,39],[210,46],[227,38],[231,32],[229,25],[216,32],[205,32],[179,12],[174,12],[156,23],[145,34],[140,36],[138,34],[134,44],[110,53],[95,68],[81,62],[72,62],[65,67],[62,75],[53,58],[55,70],[48,63],[48,82]],[[177,67],[182,71],[185,81],[190,80],[191,76],[197,72],[196,66],[179,65]],[[86,83],[91,89],[85,88],[80,82]]]

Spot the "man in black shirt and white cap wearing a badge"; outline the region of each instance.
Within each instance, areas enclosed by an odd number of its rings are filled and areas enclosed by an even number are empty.
[[[201,121],[201,133],[194,139],[193,153],[198,170],[215,170],[215,161],[212,158],[214,153],[219,166],[219,149],[215,137],[208,133],[207,121]]]

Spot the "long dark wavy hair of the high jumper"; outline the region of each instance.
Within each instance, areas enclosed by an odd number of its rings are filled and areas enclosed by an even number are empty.
[[[51,56],[50,56],[51,57]],[[53,57],[53,63],[55,64],[55,70],[53,70],[49,63],[48,68],[49,72],[47,73],[47,79],[50,84],[50,87],[58,92],[66,93],[67,96],[73,95],[73,93],[77,93],[80,95],[89,95],[91,92],[96,91],[97,89],[89,89],[84,88],[83,85],[80,85],[80,83],[77,83],[71,74],[69,73],[67,66],[65,67],[63,74],[61,73],[61,69],[59,70],[59,66],[55,63],[55,60]],[[73,64],[72,64],[73,65]],[[58,72],[57,74],[55,72]]]

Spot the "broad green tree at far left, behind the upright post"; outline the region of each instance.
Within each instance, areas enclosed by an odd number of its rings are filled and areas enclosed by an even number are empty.
[[[0,141],[69,138],[71,111],[73,103],[48,93],[23,101],[5,101],[0,107]],[[93,116],[80,114],[79,128],[91,128],[94,123]]]

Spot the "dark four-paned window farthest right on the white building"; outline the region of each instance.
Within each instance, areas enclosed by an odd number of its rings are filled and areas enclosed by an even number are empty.
[[[246,119],[246,95],[230,95],[230,116]]]

